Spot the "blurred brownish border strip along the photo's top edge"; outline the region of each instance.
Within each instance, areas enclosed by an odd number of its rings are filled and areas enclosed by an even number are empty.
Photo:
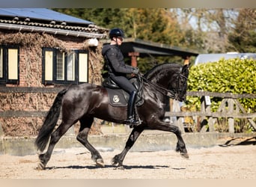
[[[0,7],[256,7],[253,0],[0,0]]]

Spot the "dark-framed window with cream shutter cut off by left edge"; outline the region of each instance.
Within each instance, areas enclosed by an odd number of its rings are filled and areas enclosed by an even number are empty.
[[[19,82],[19,48],[0,46],[0,84]]]

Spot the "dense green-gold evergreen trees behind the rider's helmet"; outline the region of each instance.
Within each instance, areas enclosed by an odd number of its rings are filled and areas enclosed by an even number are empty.
[[[123,28],[126,37],[183,46],[183,31],[165,8],[54,8],[105,28]]]

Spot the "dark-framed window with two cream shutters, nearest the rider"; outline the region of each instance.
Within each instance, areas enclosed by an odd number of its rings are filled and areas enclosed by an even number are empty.
[[[43,48],[44,85],[88,82],[88,52]]]

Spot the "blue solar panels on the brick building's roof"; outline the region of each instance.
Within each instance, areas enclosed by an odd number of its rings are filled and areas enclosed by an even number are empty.
[[[10,16],[11,18],[18,17],[19,19],[39,19],[55,22],[70,22],[81,25],[94,24],[85,19],[69,16],[64,13],[58,13],[47,8],[0,8],[0,16]]]

